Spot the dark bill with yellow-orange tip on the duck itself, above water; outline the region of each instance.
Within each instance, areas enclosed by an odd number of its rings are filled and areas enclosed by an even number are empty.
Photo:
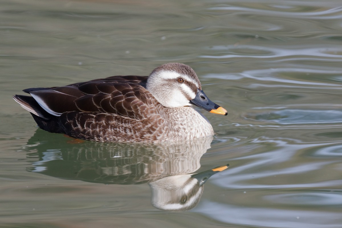
[[[227,116],[228,114],[227,110],[209,100],[203,90],[197,89],[196,97],[190,100],[190,103],[201,107],[211,113],[221,114],[225,116]]]

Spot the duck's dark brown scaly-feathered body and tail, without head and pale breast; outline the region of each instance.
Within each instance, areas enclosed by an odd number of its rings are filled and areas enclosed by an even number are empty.
[[[147,121],[161,121],[158,112],[162,106],[145,89],[146,81],[144,76],[112,76],[61,87],[30,88],[24,92],[32,97],[16,95],[14,99],[46,131],[97,141],[139,141],[148,134],[142,129],[149,125]],[[108,138],[108,131],[117,134],[115,138]]]

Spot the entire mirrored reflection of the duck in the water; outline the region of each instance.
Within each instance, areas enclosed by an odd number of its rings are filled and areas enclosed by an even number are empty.
[[[58,178],[102,184],[143,184],[152,189],[152,204],[162,210],[184,211],[195,207],[204,183],[227,166],[194,174],[212,137],[179,145],[66,143],[58,137],[44,140],[38,129],[26,147],[32,161],[28,170]]]

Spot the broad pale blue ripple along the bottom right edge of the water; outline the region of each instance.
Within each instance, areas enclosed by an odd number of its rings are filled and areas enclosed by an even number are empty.
[[[274,207],[246,207],[202,201],[197,212],[222,223],[253,227],[326,228],[340,227],[340,212],[313,211],[311,209],[279,209]],[[215,208],[215,210],[212,210]],[[227,216],[229,215],[229,216]]]

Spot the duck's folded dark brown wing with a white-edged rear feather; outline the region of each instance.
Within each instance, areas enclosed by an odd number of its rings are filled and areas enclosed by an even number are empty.
[[[144,119],[160,105],[144,88],[146,81],[144,76],[112,76],[55,88],[30,88],[24,92],[54,116],[77,111]]]

